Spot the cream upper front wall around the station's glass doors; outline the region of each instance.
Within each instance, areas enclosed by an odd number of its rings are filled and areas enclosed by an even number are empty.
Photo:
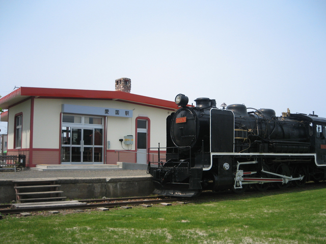
[[[72,100],[72,99],[35,99],[34,105],[34,148],[60,147],[60,113],[62,104],[79,106],[117,108],[133,110],[132,118],[107,116],[106,141],[110,141],[110,150],[123,150],[119,139],[126,135],[133,135],[134,142],[129,149],[135,149],[135,119],[139,116],[147,116],[150,119],[150,147],[166,146],[166,117],[171,111],[152,108],[131,103],[103,100]],[[10,115],[12,112],[10,112]],[[105,138],[104,138],[105,139]],[[124,148],[127,148],[123,144]]]

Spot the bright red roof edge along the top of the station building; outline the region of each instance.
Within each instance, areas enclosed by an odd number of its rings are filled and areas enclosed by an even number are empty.
[[[107,90],[79,90],[39,87],[20,87],[14,90],[14,92],[0,98],[0,107],[3,109],[8,109],[10,106],[30,97],[115,100],[171,110],[178,109],[178,106],[174,102],[131,93],[113,92]]]

